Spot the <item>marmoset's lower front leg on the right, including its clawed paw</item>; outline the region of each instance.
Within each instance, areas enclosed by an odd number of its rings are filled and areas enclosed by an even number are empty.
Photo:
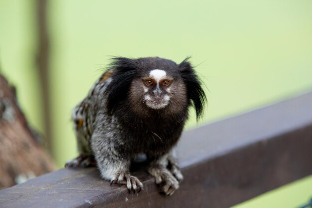
[[[161,185],[161,191],[171,196],[179,188],[183,176],[171,153],[156,157],[151,163],[149,173],[154,176],[156,184]]]

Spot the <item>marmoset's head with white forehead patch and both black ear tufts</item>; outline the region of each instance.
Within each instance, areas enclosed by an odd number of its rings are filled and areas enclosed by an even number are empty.
[[[159,57],[117,57],[109,70],[113,71],[112,81],[105,93],[110,113],[126,102],[139,114],[151,111],[174,114],[186,110],[193,102],[197,118],[202,114],[206,97],[188,58],[176,64]]]

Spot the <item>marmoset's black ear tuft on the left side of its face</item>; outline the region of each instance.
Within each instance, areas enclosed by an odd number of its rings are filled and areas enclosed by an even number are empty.
[[[136,60],[125,57],[114,57],[108,70],[113,70],[112,81],[107,86],[104,96],[107,97],[106,110],[112,115],[118,105],[127,99],[131,81],[137,72]]]

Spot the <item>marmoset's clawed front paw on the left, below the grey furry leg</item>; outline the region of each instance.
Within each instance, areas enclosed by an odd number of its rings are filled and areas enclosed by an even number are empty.
[[[141,183],[141,181],[137,177],[131,176],[130,173],[126,171],[121,171],[120,173],[117,173],[115,179],[111,181],[111,186],[113,183],[119,184],[119,186],[125,184],[127,186],[129,194],[131,192],[135,194],[136,191],[141,192],[141,190],[143,189],[143,184]]]

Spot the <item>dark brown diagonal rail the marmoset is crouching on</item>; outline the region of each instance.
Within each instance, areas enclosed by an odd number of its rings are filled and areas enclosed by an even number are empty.
[[[184,181],[171,197],[145,168],[139,194],[95,168],[62,169],[0,191],[0,208],[230,207],[312,174],[312,92],[186,131],[177,153]]]

